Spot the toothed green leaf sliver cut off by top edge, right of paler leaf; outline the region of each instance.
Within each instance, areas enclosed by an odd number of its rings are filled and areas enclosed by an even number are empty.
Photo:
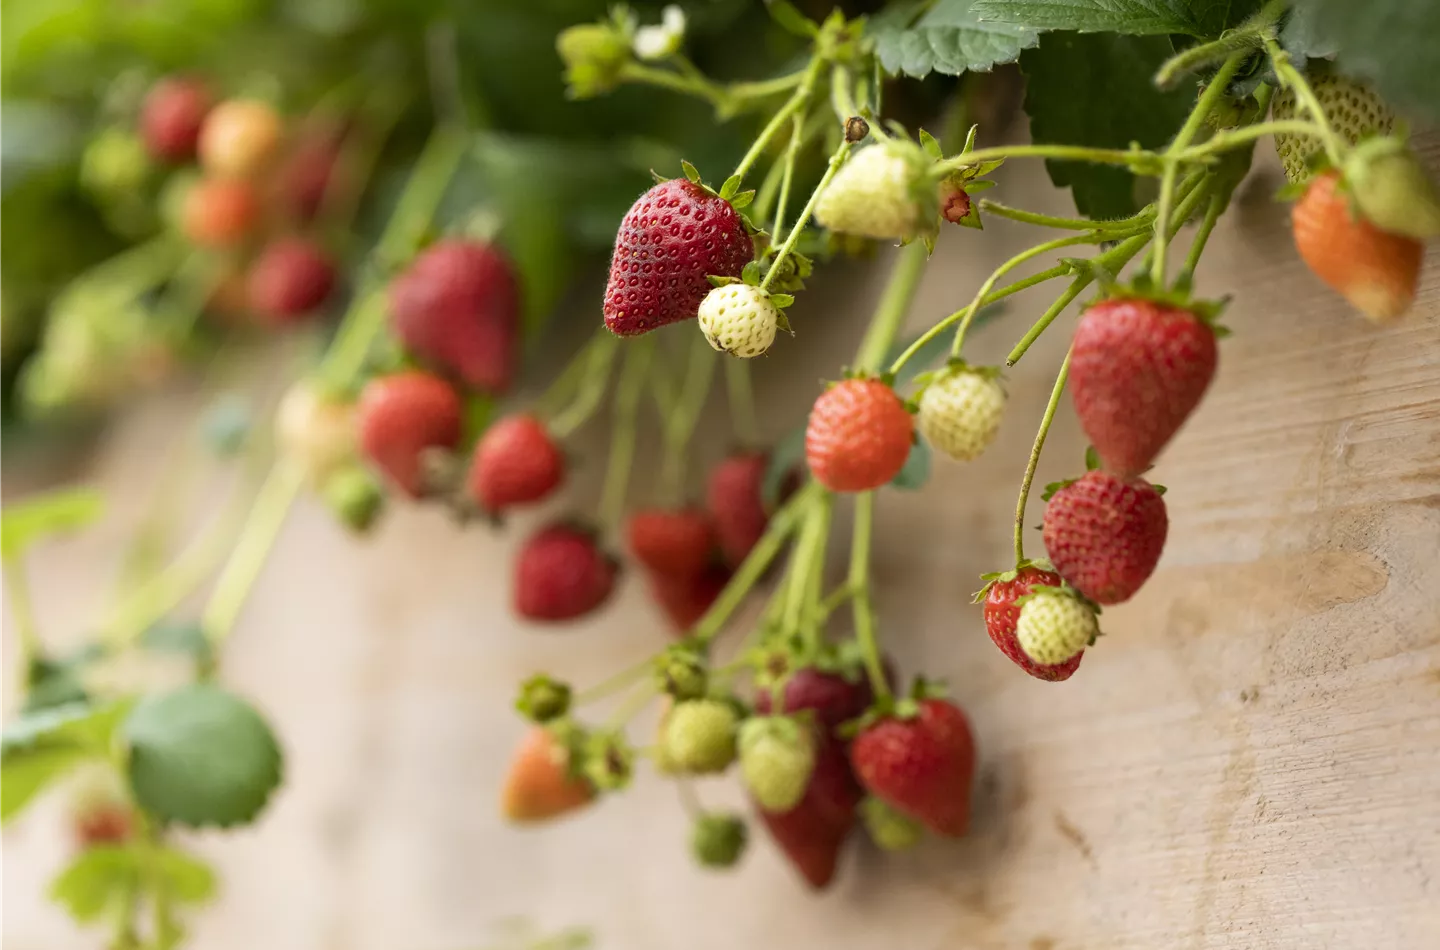
[[[1031,30],[1210,36],[1224,29],[1230,0],[976,0],[973,13]]]

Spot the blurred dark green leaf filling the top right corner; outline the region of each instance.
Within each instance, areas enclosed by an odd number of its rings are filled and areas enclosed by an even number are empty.
[[[1440,119],[1440,3],[1434,0],[1296,0],[1312,55],[1338,49],[1341,72],[1368,79],[1397,109]]]

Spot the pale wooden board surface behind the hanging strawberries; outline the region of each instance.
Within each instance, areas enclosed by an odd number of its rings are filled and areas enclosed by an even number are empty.
[[[1041,180],[1012,163],[999,193],[1064,210]],[[1236,335],[1155,472],[1169,488],[1161,570],[1104,613],[1074,679],[1021,675],[969,606],[978,574],[1008,561],[1073,317],[1009,376],[986,458],[937,463],[923,492],[878,505],[886,642],[907,671],[948,677],[976,725],[969,839],[855,846],[812,897],[759,831],[740,871],[694,869],[674,792],[649,776],[550,829],[504,826],[514,682],[537,668],[593,681],[662,643],[642,584],[593,623],[523,629],[508,557],[534,518],[461,534],[400,511],[357,546],[304,504],[225,661],[278,724],[288,782],[259,826],[194,839],[225,879],[196,947],[461,950],[517,914],[593,927],[606,950],[1440,947],[1440,262],[1431,248],[1407,322],[1369,327],[1305,272],[1274,186],[1251,181],[1201,269],[1207,295],[1234,295]],[[1005,222],[948,235],[912,324],[1032,239]],[[795,308],[799,335],[762,367],[772,435],[845,361],[880,276],[827,278]],[[1043,294],[981,331],[976,356],[1002,357]],[[36,558],[53,629],[94,616],[179,412],[153,406],[107,443],[94,475],[121,511]],[[723,448],[708,436],[704,451]],[[1066,406],[1037,482],[1079,471],[1081,448]],[[1030,544],[1041,551],[1038,533]],[[740,800],[733,780],[700,793]],[[4,835],[7,950],[96,944],[40,898],[63,858],[58,815]]]

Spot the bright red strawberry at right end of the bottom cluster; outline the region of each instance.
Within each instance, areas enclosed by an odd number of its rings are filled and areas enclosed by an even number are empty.
[[[883,718],[855,737],[850,761],[860,783],[930,831],[958,838],[971,820],[975,738],[953,702],[920,700],[912,718]]]

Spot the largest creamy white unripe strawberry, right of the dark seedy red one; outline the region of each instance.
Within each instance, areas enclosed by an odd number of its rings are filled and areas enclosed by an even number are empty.
[[[907,240],[930,226],[939,203],[930,158],[890,140],[850,157],[815,204],[815,220],[844,235]]]

